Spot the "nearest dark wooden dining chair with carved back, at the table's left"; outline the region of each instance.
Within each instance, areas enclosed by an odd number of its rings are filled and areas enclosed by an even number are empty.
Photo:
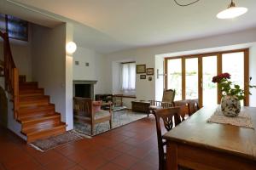
[[[166,167],[166,153],[164,150],[166,141],[162,139],[163,130],[161,129],[161,120],[164,123],[164,127],[166,128],[166,131],[170,131],[174,126],[176,126],[176,120],[179,117],[178,116],[179,111],[180,111],[180,107],[154,110],[160,170],[164,170]],[[173,122],[173,120],[175,121]]]

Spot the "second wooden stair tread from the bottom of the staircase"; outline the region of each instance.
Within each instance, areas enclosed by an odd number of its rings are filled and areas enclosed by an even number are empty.
[[[60,114],[55,112],[55,113],[49,113],[49,114],[44,114],[44,115],[31,115],[31,116],[21,117],[19,119],[19,121],[21,123],[37,122],[37,121],[55,118],[55,117],[59,117],[59,116],[60,116]]]

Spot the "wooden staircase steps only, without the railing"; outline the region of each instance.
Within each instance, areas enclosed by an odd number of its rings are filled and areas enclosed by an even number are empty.
[[[17,121],[21,123],[21,133],[30,143],[52,135],[64,133],[66,124],[61,122],[61,114],[55,112],[55,105],[49,103],[49,96],[44,95],[44,88],[38,88],[38,82],[19,83],[19,101]]]

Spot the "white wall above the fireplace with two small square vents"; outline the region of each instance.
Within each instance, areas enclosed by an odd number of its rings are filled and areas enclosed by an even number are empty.
[[[75,65],[75,61],[79,61],[79,65]],[[85,63],[89,63],[89,66],[85,66]],[[95,94],[104,94],[105,78],[109,78],[104,77],[104,72],[105,58],[102,54],[90,48],[77,48],[73,54],[73,80],[96,80]]]

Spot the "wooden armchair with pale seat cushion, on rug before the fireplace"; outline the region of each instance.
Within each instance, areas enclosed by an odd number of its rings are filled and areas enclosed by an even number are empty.
[[[109,103],[111,105],[111,103]],[[95,109],[93,102],[88,98],[73,98],[73,117],[77,122],[85,122],[90,124],[90,133],[93,135],[94,127],[97,123],[109,121],[112,128],[112,111],[109,106],[109,111]]]

